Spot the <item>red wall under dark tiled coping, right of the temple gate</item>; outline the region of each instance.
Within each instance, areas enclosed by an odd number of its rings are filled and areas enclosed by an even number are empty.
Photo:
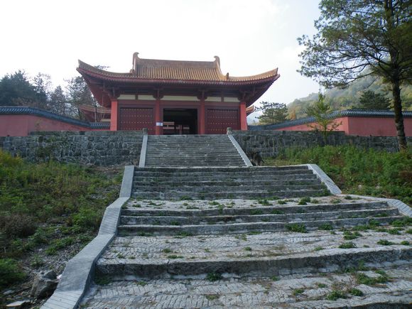
[[[359,136],[396,136],[395,121],[388,117],[341,117],[335,119],[339,124],[336,131],[345,131],[348,135]],[[298,126],[288,126],[286,128],[276,129],[276,131],[310,131],[313,130],[308,125],[300,124]],[[412,136],[412,118],[403,119],[406,136]]]

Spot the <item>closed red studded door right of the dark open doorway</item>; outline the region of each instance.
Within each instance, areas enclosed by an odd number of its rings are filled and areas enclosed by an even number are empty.
[[[239,109],[207,109],[207,134],[226,134],[228,126],[234,130],[240,129]]]

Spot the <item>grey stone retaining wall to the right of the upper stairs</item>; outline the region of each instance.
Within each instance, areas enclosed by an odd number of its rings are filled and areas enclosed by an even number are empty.
[[[233,131],[233,136],[246,154],[260,151],[262,157],[277,156],[279,151],[290,147],[308,148],[325,145],[322,134],[314,131]],[[412,146],[412,137],[408,137]],[[352,136],[343,131],[330,132],[327,144],[339,146],[350,144],[362,148],[374,148],[384,151],[398,151],[398,141],[394,136]]]

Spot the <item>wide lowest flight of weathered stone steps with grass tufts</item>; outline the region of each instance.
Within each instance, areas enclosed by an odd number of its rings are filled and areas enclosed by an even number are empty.
[[[344,196],[130,200],[82,308],[403,308],[408,224],[386,202]],[[331,300],[337,289],[348,299]]]

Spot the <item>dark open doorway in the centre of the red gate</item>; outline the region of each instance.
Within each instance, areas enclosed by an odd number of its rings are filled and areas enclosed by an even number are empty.
[[[163,134],[197,134],[197,109],[163,109]]]

